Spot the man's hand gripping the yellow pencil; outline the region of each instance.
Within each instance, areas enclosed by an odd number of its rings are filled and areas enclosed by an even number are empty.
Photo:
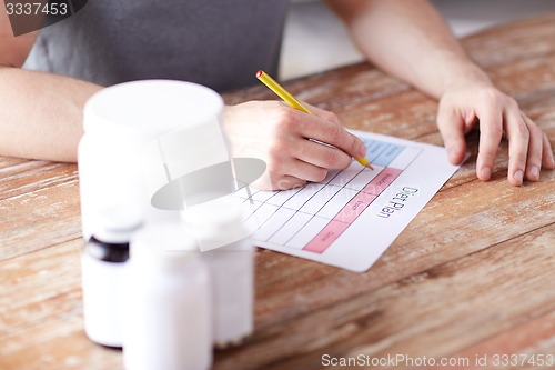
[[[284,190],[322,181],[327,170],[344,169],[352,157],[366,156],[364,143],[349,133],[334,113],[305,107],[313,114],[278,101],[225,107],[224,127],[233,156],[266,162],[266,171],[254,183],[258,188]]]

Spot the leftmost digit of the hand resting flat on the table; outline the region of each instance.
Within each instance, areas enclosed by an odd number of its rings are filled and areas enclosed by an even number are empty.
[[[440,109],[437,112],[437,127],[443,137],[451,163],[461,163],[466,152],[463,118],[456,114],[453,109]]]

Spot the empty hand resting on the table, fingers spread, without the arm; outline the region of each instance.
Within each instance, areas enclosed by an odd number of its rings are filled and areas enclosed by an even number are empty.
[[[476,174],[492,176],[497,148],[508,140],[508,181],[537,181],[542,167],[553,170],[555,161],[547,136],[524,114],[516,101],[487,83],[463,83],[445,90],[440,99],[437,126],[452,163],[463,160],[464,134],[480,122]]]

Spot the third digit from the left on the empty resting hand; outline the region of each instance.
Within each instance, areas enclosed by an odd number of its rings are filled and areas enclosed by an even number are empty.
[[[505,128],[508,140],[508,182],[521,186],[531,140],[528,126],[519,111],[511,109],[505,111]]]

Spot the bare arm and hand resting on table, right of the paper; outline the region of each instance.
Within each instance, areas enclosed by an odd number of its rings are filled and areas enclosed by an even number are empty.
[[[503,136],[509,142],[508,181],[537,181],[555,168],[547,137],[466,56],[428,0],[327,0],[361,51],[375,64],[438,98],[437,124],[453,163],[465,152],[464,134],[480,121],[476,172],[487,180]]]

